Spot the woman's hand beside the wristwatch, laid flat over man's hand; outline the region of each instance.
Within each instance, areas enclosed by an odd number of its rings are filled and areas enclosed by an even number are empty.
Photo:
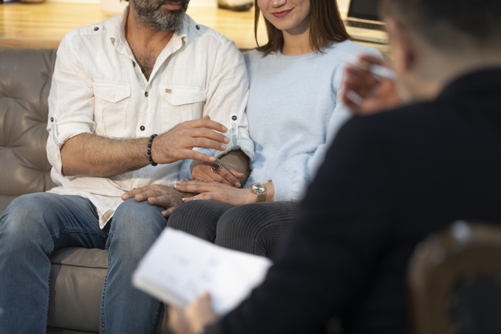
[[[199,193],[197,196],[183,198],[183,202],[207,199],[237,206],[257,201],[257,197],[251,192],[250,188],[238,189],[231,185],[217,182],[203,182],[199,180],[177,181],[175,188],[180,192]]]

